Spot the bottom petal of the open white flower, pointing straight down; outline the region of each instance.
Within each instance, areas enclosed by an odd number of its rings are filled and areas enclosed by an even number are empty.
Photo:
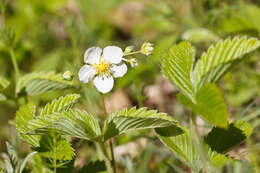
[[[105,93],[111,91],[111,89],[113,88],[114,79],[113,79],[112,76],[109,76],[109,77],[106,77],[106,76],[99,77],[99,76],[97,76],[94,79],[94,85],[96,86],[98,91],[105,94]]]

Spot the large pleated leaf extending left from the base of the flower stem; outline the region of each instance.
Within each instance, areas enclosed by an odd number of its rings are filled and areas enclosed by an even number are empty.
[[[98,121],[90,114],[81,110],[69,110],[39,117],[29,122],[32,130],[29,134],[45,134],[59,132],[85,140],[95,140],[101,135]]]

